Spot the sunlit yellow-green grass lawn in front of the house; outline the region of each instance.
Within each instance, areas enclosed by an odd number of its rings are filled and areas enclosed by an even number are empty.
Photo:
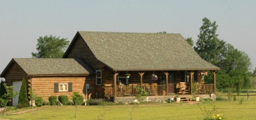
[[[241,97],[240,97],[241,98]],[[211,101],[197,105],[184,103],[143,104],[134,108],[133,119],[202,119],[200,107],[211,110],[212,106],[225,119],[256,119],[256,96],[250,96],[250,101],[244,96],[243,104],[238,101]],[[133,105],[131,105],[133,106]],[[21,111],[21,110],[18,110]],[[37,107],[32,114],[28,111],[21,114],[5,113],[5,119],[130,119],[129,105],[113,106],[78,106],[76,118],[74,106],[44,106]],[[27,110],[22,110],[27,111]]]

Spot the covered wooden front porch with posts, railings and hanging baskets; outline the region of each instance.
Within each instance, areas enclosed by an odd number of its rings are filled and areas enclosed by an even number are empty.
[[[201,71],[170,71],[170,72],[137,72],[139,81],[136,81],[136,72],[125,72],[114,74],[114,84],[104,84],[104,96],[117,98],[121,96],[136,96],[137,87],[140,86],[148,96],[166,96],[166,95],[192,95],[192,84],[196,83],[198,88],[197,94],[214,94],[216,93],[216,75],[215,71],[210,71],[213,75],[212,84],[204,84]],[[157,80],[143,79],[143,76],[152,75],[160,76]],[[147,75],[145,75],[147,74]],[[161,76],[162,74],[162,76]],[[131,77],[133,80],[130,81]],[[122,79],[126,79],[122,81]],[[200,80],[199,80],[200,79]],[[125,82],[126,81],[126,82]],[[130,81],[130,82],[129,82]]]

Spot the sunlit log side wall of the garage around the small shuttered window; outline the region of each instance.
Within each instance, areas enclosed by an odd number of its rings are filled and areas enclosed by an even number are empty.
[[[87,80],[84,77],[71,77],[71,76],[55,76],[55,77],[32,77],[31,83],[32,83],[32,89],[35,89],[35,94],[37,96],[43,97],[45,101],[48,101],[48,97],[55,95],[67,95],[68,98],[72,98],[73,92],[79,92],[84,98],[85,96],[85,80]],[[72,83],[72,92],[54,92],[54,83],[58,84],[67,84]],[[69,86],[68,86],[69,87]],[[68,88],[67,88],[68,89]]]

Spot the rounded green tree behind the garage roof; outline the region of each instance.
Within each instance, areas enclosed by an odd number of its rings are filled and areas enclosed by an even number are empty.
[[[67,38],[53,37],[52,35],[40,36],[37,42],[38,53],[32,52],[33,58],[62,58],[69,44]]]

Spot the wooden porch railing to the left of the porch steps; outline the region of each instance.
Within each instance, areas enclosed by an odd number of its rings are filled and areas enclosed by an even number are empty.
[[[105,96],[114,95],[113,85],[104,85]],[[141,88],[148,93],[148,95],[166,94],[166,85],[142,85]],[[122,85],[116,86],[117,96],[133,96],[137,95],[137,85]]]

